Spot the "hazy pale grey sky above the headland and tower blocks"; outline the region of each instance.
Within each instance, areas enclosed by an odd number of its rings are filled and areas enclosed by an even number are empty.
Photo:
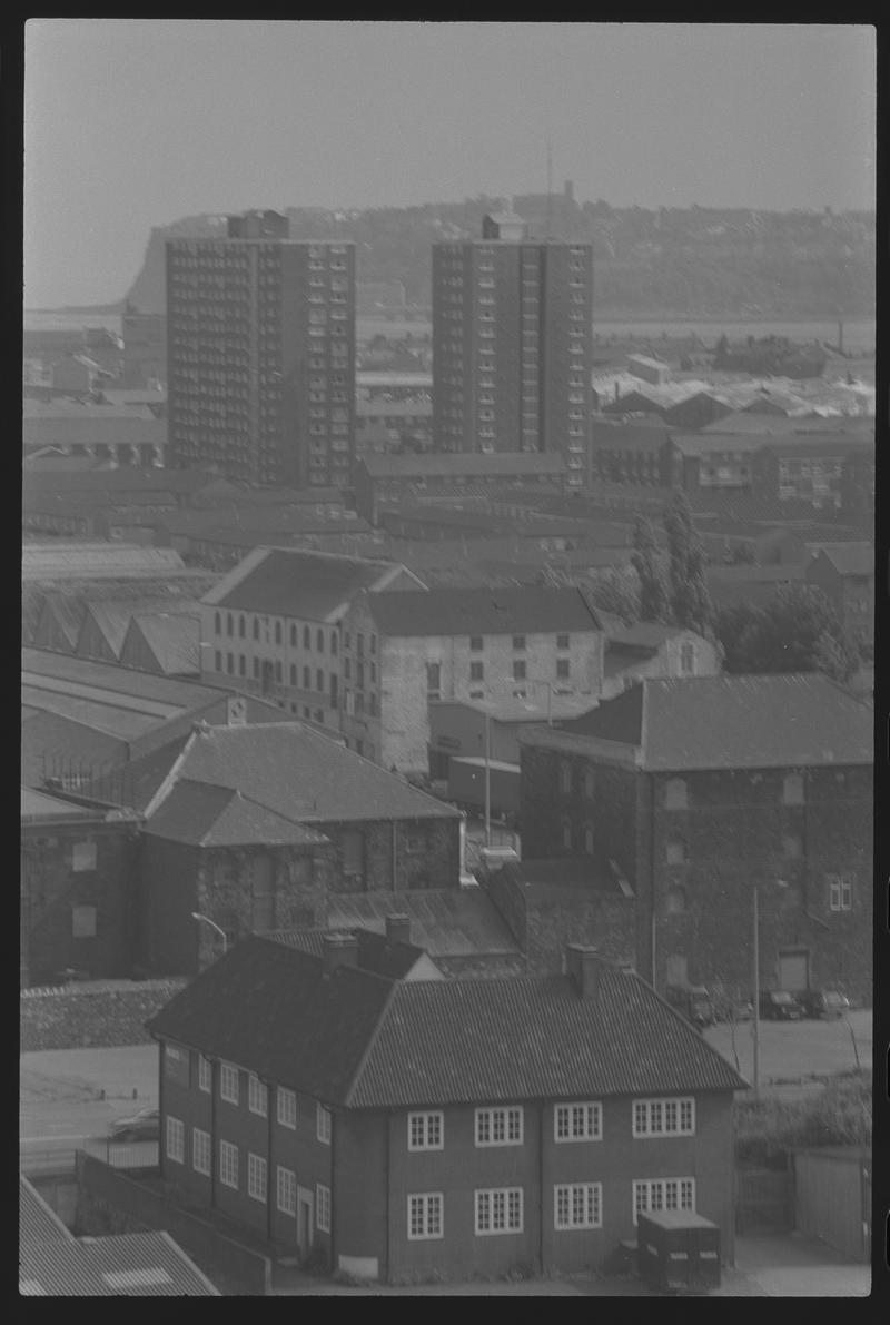
[[[874,207],[867,26],[38,19],[25,303],[110,302],[148,231],[543,192]]]

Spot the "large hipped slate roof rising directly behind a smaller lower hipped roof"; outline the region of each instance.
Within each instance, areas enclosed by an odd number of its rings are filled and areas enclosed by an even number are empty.
[[[453,806],[301,722],[201,723],[180,741],[127,765],[134,804],[146,807],[171,771],[170,792],[181,782],[240,791],[245,800],[291,824],[460,818]],[[151,823],[155,814],[158,807]]]

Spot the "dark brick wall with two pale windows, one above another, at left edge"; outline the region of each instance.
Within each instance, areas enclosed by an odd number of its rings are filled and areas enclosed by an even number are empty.
[[[75,843],[95,844],[95,868],[74,869]],[[46,984],[70,967],[94,979],[128,975],[134,961],[136,839],[132,825],[53,824],[21,833],[21,983]],[[73,908],[95,908],[95,935],[74,937]]]

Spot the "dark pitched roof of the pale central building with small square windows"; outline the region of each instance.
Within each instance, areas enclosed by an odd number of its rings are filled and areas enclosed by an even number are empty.
[[[432,588],[368,596],[381,635],[547,635],[597,631],[576,588]]]

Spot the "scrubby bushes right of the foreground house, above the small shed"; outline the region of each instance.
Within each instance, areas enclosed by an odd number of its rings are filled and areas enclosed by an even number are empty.
[[[739,1100],[734,1106],[735,1158],[769,1165],[795,1146],[871,1145],[871,1079],[832,1077],[812,1100]]]

